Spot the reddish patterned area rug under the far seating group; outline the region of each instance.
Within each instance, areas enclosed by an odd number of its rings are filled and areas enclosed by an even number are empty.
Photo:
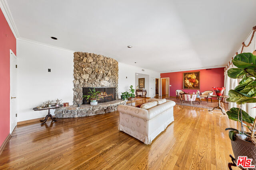
[[[178,105],[183,105],[183,106],[192,106],[192,107],[201,107],[201,108],[206,108],[206,109],[212,109],[215,106],[218,106],[218,102],[205,102],[202,101],[201,104],[199,104],[198,100],[196,99],[196,101],[194,102],[194,104],[192,103],[192,105],[190,104],[190,102],[183,102],[183,104],[181,104],[180,99],[174,99],[174,98],[165,98],[166,100],[172,100],[174,101],[176,104]],[[222,108],[224,108],[223,103],[220,103],[220,106]]]

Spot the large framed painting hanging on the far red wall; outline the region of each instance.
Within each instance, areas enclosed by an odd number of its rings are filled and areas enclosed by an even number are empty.
[[[200,90],[200,71],[183,73],[183,89]]]

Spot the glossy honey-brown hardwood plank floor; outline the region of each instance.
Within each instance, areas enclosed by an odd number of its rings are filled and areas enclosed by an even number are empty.
[[[228,169],[233,152],[225,128],[237,122],[221,111],[176,105],[174,122],[151,145],[118,131],[118,115],[20,125],[0,169]]]

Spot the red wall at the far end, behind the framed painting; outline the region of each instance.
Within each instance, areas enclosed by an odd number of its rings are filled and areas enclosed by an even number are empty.
[[[176,96],[175,90],[183,90],[182,87],[182,76],[183,72],[200,71],[200,92],[206,90],[212,90],[212,87],[223,87],[224,86],[224,67],[222,68],[211,68],[210,70],[190,70],[180,72],[168,72],[161,73],[161,78],[169,78],[170,80],[170,96]],[[184,92],[196,92],[197,90],[183,90]],[[212,90],[213,91],[213,90]],[[215,94],[215,93],[214,93]]]

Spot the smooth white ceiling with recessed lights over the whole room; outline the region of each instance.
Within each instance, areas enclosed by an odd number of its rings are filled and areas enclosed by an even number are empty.
[[[7,2],[22,38],[159,72],[225,66],[256,25],[255,0]]]

